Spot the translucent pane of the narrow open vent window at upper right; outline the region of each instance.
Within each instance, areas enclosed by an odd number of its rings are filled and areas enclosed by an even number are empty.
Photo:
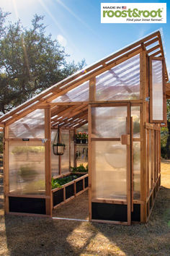
[[[163,80],[162,61],[152,61],[153,120],[163,120]]]

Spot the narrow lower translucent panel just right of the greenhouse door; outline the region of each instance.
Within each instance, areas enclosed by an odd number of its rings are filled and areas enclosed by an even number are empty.
[[[133,198],[140,199],[140,142],[133,142]]]

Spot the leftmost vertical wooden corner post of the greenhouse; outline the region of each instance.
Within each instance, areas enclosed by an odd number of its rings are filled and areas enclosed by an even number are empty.
[[[4,212],[9,213],[9,127],[4,128]]]

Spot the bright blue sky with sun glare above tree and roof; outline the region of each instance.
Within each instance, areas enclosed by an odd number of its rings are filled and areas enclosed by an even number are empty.
[[[109,0],[0,0],[8,20],[21,20],[24,27],[31,26],[34,14],[44,15],[46,33],[52,34],[66,48],[68,61],[82,59],[92,64],[118,51],[135,40],[162,28],[166,65],[170,70],[170,1],[167,1],[167,22],[155,24],[102,24],[101,3],[166,3],[166,1],[109,1]]]

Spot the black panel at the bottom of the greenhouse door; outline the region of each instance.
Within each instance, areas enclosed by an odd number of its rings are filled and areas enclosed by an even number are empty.
[[[103,221],[128,221],[127,205],[92,202],[92,219]]]

